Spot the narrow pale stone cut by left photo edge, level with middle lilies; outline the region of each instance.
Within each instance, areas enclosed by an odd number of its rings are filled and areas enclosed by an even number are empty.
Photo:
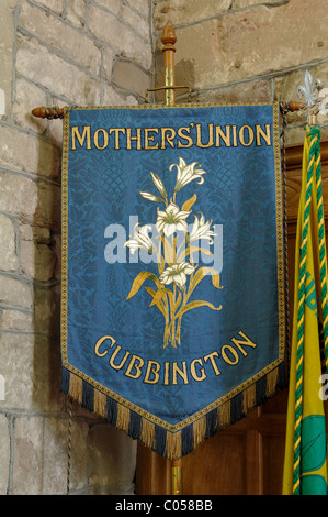
[[[16,254],[16,235],[12,220],[0,215],[0,270],[16,271],[19,258]]]

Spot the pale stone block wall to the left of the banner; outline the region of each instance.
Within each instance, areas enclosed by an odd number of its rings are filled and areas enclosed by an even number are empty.
[[[151,81],[148,0],[0,2],[0,494],[65,494],[60,120],[38,106],[136,105]],[[4,113],[4,114],[3,114]],[[134,491],[136,442],[73,406],[70,493]]]

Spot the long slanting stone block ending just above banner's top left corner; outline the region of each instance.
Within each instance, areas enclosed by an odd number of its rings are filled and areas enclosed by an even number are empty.
[[[98,106],[100,82],[36,41],[18,36],[16,72],[71,105]]]

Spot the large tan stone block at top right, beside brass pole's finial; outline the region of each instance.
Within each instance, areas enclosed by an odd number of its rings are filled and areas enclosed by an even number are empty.
[[[293,0],[178,28],[176,63],[193,59],[195,88],[205,89],[326,59],[327,7]],[[302,12],[297,22],[295,12]]]

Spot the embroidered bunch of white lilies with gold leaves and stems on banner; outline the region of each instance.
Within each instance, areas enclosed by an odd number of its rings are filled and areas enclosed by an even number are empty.
[[[177,345],[181,344],[182,318],[186,312],[200,307],[222,309],[222,305],[213,305],[201,296],[195,295],[196,297],[192,298],[194,289],[208,273],[213,287],[220,289],[222,286],[216,270],[207,265],[203,267],[199,261],[193,260],[193,254],[199,251],[202,256],[213,254],[210,248],[214,245],[216,233],[212,219],[206,220],[202,211],[193,211],[193,206],[199,202],[196,193],[186,189],[189,191],[185,193],[184,199],[180,199],[183,197],[181,189],[193,180],[202,185],[206,172],[197,162],[186,164],[181,157],[177,157],[177,163],[169,165],[169,170],[176,173],[176,178],[168,178],[166,175],[165,179],[169,179],[167,185],[157,174],[150,172],[155,194],[139,191],[144,199],[158,204],[156,222],[152,220],[155,227],[150,223],[143,227],[136,224],[133,237],[124,245],[131,248],[132,254],[136,250],[150,253],[151,258],[156,258],[150,262],[157,264],[158,272],[154,272],[155,265],[149,266],[148,271],[140,271],[133,280],[126,300],[131,300],[144,288],[151,298],[149,307],[157,307],[165,319],[163,349],[168,345],[177,349]],[[186,220],[191,215],[194,215],[194,219],[189,226]],[[195,243],[199,240],[202,240],[202,244]],[[208,241],[208,246],[205,246],[204,241]],[[140,252],[140,258],[142,255]],[[149,283],[150,286],[147,285]]]

